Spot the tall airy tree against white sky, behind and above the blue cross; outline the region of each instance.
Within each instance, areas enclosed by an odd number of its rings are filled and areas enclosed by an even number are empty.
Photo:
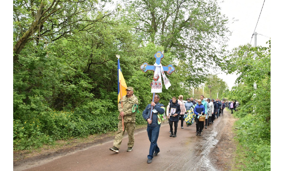
[[[184,60],[191,73],[202,72],[195,66],[207,71],[207,66],[219,63],[218,54],[224,52],[229,31],[215,0],[135,0],[126,6],[130,14],[126,18],[143,40]]]

